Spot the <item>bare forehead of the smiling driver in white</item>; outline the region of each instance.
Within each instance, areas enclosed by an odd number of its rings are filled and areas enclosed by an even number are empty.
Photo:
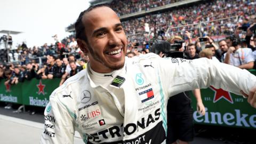
[[[121,23],[117,14],[107,6],[97,7],[83,15],[86,33],[102,27],[111,27],[117,23]]]

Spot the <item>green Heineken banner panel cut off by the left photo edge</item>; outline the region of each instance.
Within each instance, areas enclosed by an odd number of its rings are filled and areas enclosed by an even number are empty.
[[[0,81],[0,101],[22,104],[21,86],[22,83],[5,86],[4,81]]]

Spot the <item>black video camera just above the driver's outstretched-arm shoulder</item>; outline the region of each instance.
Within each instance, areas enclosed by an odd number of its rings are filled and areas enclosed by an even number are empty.
[[[179,51],[182,47],[182,43],[184,43],[184,41],[174,41],[174,44],[171,44],[166,41],[158,40],[152,45],[151,52],[156,54],[162,52],[166,57],[186,58],[186,54]]]

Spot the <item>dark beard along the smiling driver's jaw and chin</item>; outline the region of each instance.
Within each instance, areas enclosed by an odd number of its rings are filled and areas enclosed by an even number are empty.
[[[89,49],[90,54],[92,55],[93,59],[102,63],[104,66],[106,66],[107,68],[111,69],[111,70],[118,70],[124,67],[124,62],[119,64],[119,65],[108,65],[107,63],[105,63],[101,58],[100,55],[98,53],[95,53],[91,47],[91,45],[89,43],[87,43],[87,47]]]

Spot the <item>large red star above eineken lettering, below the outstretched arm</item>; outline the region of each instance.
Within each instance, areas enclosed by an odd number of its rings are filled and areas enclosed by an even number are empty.
[[[215,89],[213,86],[210,86],[210,88],[215,91],[214,94],[214,99],[213,102],[217,102],[218,100],[220,100],[221,98],[226,99],[227,101],[229,101],[230,103],[234,103],[233,99],[231,97],[231,94],[227,91],[224,91],[222,89]]]

